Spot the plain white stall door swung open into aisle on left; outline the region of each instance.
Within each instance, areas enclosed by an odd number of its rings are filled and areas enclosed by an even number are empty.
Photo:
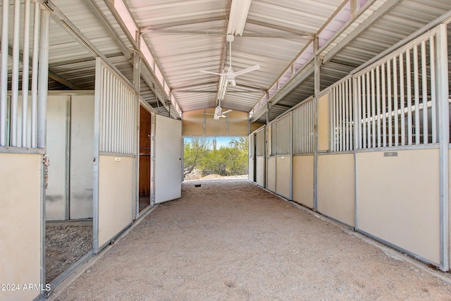
[[[182,122],[156,115],[155,204],[182,194]]]

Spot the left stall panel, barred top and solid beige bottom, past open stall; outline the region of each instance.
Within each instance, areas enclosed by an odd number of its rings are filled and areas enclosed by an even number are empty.
[[[94,109],[94,253],[133,221],[139,100],[121,75],[97,58]]]

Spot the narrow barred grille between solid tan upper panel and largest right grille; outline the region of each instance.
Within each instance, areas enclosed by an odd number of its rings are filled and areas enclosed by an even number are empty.
[[[352,78],[330,89],[330,145],[332,152],[354,149],[354,105]]]

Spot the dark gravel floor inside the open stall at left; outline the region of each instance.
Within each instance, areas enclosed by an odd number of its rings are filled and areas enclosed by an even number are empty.
[[[46,226],[45,235],[47,283],[92,250],[92,225]]]

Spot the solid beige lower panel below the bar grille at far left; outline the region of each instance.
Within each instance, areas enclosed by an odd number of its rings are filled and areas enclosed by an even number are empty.
[[[1,283],[41,283],[39,154],[0,154]],[[39,290],[0,290],[0,300],[33,300]]]

